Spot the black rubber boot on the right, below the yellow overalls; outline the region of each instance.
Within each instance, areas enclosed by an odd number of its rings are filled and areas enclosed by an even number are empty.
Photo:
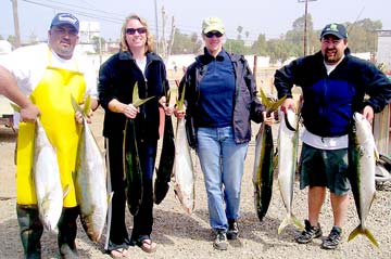
[[[76,233],[77,233],[77,224],[76,219],[79,215],[79,208],[63,208],[61,218],[59,220],[59,249],[60,256],[64,259],[73,259],[78,258],[76,250]]]

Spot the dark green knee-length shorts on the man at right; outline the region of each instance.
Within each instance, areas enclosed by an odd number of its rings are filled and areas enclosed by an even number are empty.
[[[348,148],[328,151],[303,143],[299,164],[300,189],[326,186],[338,196],[346,194],[351,189],[348,160]]]

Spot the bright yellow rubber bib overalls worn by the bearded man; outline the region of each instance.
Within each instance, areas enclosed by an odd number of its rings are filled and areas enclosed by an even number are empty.
[[[77,202],[72,172],[75,170],[80,130],[75,120],[71,95],[83,103],[86,80],[79,72],[52,67],[51,60],[52,53],[49,50],[49,65],[29,98],[39,107],[41,125],[55,148],[62,186],[70,186],[63,206],[75,207]],[[21,122],[16,158],[18,205],[37,204],[33,178],[34,139],[35,124]]]

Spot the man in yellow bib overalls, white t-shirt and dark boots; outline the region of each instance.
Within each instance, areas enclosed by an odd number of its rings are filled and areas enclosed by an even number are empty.
[[[79,22],[74,15],[59,13],[50,25],[48,44],[20,48],[3,64],[15,76],[18,88],[38,106],[40,122],[56,152],[61,184],[68,190],[58,223],[61,258],[77,258],[75,238],[79,209],[72,172],[76,163],[79,125],[71,96],[81,104],[89,94],[92,109],[98,106],[93,69],[87,68],[81,57],[74,55],[78,30]],[[28,259],[41,258],[40,238],[43,232],[31,176],[34,139],[35,124],[21,121],[16,212],[25,258]]]

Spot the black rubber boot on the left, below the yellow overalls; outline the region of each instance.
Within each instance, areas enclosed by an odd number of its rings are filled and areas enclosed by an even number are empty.
[[[40,259],[40,238],[43,225],[39,220],[38,208],[34,206],[16,205],[17,223],[24,249],[25,259]]]

